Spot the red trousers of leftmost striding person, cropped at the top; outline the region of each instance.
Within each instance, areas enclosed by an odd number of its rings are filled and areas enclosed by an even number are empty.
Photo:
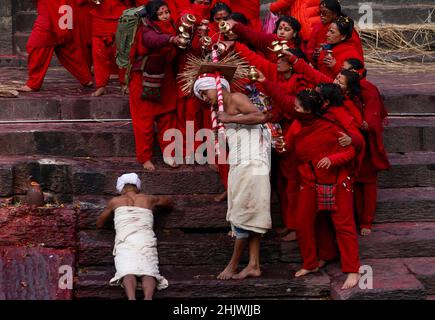
[[[27,42],[28,80],[26,85],[39,90],[44,82],[45,74],[56,53],[59,62],[82,84],[92,81],[86,57],[78,45],[77,38],[71,30],[59,28],[59,7],[71,5],[67,0],[37,0],[38,16]],[[74,15],[73,15],[74,17]],[[75,18],[73,18],[75,19]],[[76,25],[77,20],[73,20]]]

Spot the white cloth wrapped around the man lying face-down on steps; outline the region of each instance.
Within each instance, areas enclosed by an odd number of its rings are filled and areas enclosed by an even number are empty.
[[[156,279],[157,290],[168,287],[168,281],[160,275],[157,239],[153,230],[151,210],[139,207],[119,207],[115,210],[116,274],[111,285],[122,285],[126,275],[151,276]],[[140,288],[140,283],[138,283]]]

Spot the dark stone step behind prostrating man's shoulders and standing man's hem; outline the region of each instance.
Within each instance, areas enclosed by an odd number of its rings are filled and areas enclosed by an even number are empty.
[[[95,223],[110,197],[74,197],[80,208],[80,230],[95,229]],[[156,229],[224,229],[227,203],[215,202],[214,195],[174,195],[175,209],[155,214]],[[380,189],[375,223],[435,222],[435,188]],[[272,225],[281,225],[281,209],[277,199],[272,201]],[[113,228],[108,225],[107,228]]]

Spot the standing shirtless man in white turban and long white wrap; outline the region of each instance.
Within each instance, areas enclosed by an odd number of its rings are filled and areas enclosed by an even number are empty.
[[[230,93],[227,81],[222,81],[225,112],[218,119],[225,123],[228,138],[230,172],[228,177],[227,221],[236,237],[231,261],[218,279],[259,277],[260,237],[272,227],[270,216],[270,139],[259,124],[269,120],[249,98]],[[211,105],[217,104],[215,78],[201,77],[194,84],[195,95]],[[239,273],[238,265],[248,244],[249,263]]]

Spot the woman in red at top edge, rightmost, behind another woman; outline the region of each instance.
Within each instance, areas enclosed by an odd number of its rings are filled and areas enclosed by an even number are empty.
[[[307,58],[313,64],[317,64],[322,45],[326,43],[326,35],[329,31],[331,23],[339,16],[344,16],[341,11],[341,5],[338,0],[323,0],[319,6],[320,22],[314,25],[311,37],[306,46]],[[353,29],[352,37],[349,43],[353,43],[360,55],[364,54],[361,39],[358,33]]]

